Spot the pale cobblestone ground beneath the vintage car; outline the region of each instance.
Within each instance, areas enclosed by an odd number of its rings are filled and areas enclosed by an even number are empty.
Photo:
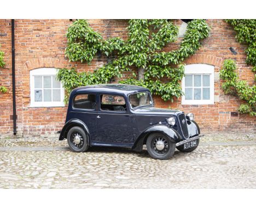
[[[207,134],[167,161],[146,149],[74,153],[57,138],[0,139],[0,150],[0,188],[256,188],[255,134]]]

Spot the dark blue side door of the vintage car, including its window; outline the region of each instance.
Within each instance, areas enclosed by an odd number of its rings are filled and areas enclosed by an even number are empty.
[[[119,94],[100,94],[98,100],[96,143],[131,146],[131,115],[127,111],[125,97]]]

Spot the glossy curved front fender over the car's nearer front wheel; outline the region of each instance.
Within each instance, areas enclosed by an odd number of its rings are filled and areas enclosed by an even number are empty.
[[[179,133],[166,125],[154,125],[148,127],[145,131],[143,131],[138,138],[135,140],[135,143],[132,146],[132,150],[142,151],[144,140],[147,139],[149,134],[151,133],[161,133],[164,134],[167,138],[171,139],[173,143],[177,143],[181,141],[181,136]]]

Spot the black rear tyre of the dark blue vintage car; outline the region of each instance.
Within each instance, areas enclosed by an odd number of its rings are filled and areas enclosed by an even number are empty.
[[[76,136],[80,140],[79,144],[74,142],[74,139]],[[79,126],[74,126],[68,131],[67,142],[68,142],[69,148],[73,152],[84,152],[89,148],[89,145],[87,143],[87,136],[84,130]]]

